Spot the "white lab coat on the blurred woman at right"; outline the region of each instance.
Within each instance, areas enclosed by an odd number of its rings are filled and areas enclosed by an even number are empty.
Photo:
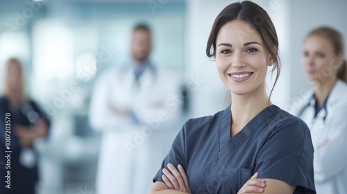
[[[314,91],[307,92],[288,110],[310,127],[317,194],[346,194],[347,84],[337,80],[326,102],[326,109],[321,109],[316,118],[313,94]]]

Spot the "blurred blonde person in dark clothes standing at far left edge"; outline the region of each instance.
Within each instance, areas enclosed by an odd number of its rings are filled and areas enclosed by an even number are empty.
[[[6,164],[0,166],[0,193],[33,194],[39,178],[33,143],[47,135],[49,120],[26,95],[21,62],[10,58],[6,68],[5,93],[0,97],[0,152],[10,157],[0,159]]]

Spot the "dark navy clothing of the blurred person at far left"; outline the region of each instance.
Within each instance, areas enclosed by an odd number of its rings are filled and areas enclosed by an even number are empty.
[[[49,125],[49,120],[44,116],[41,109],[36,105],[35,102],[30,100],[28,105],[31,106],[32,110],[36,112],[40,117],[44,118],[46,123]],[[6,169],[6,125],[5,125],[5,114],[10,113],[10,169]],[[28,120],[28,117],[20,109],[10,109],[10,101],[6,97],[0,97],[0,193],[1,194],[35,194],[35,184],[37,183],[38,172],[37,166],[33,168],[26,168],[19,163],[19,155],[22,152],[22,148],[19,146],[19,138],[16,136],[13,127],[16,125],[24,125],[29,127],[33,125]],[[10,189],[6,188],[5,176],[7,170],[10,170]]]

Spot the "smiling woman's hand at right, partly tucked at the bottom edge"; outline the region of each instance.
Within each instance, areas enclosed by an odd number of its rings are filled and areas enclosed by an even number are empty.
[[[249,179],[242,188],[240,188],[237,194],[242,193],[263,193],[266,187],[264,179],[258,179],[259,173],[255,173],[251,179]]]

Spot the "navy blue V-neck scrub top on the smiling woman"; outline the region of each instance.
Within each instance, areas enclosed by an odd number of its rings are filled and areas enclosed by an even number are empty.
[[[214,116],[188,120],[153,178],[162,180],[167,164],[182,165],[192,193],[237,193],[259,172],[296,186],[294,193],[316,193],[310,130],[276,105],[262,110],[230,139],[230,106]]]

